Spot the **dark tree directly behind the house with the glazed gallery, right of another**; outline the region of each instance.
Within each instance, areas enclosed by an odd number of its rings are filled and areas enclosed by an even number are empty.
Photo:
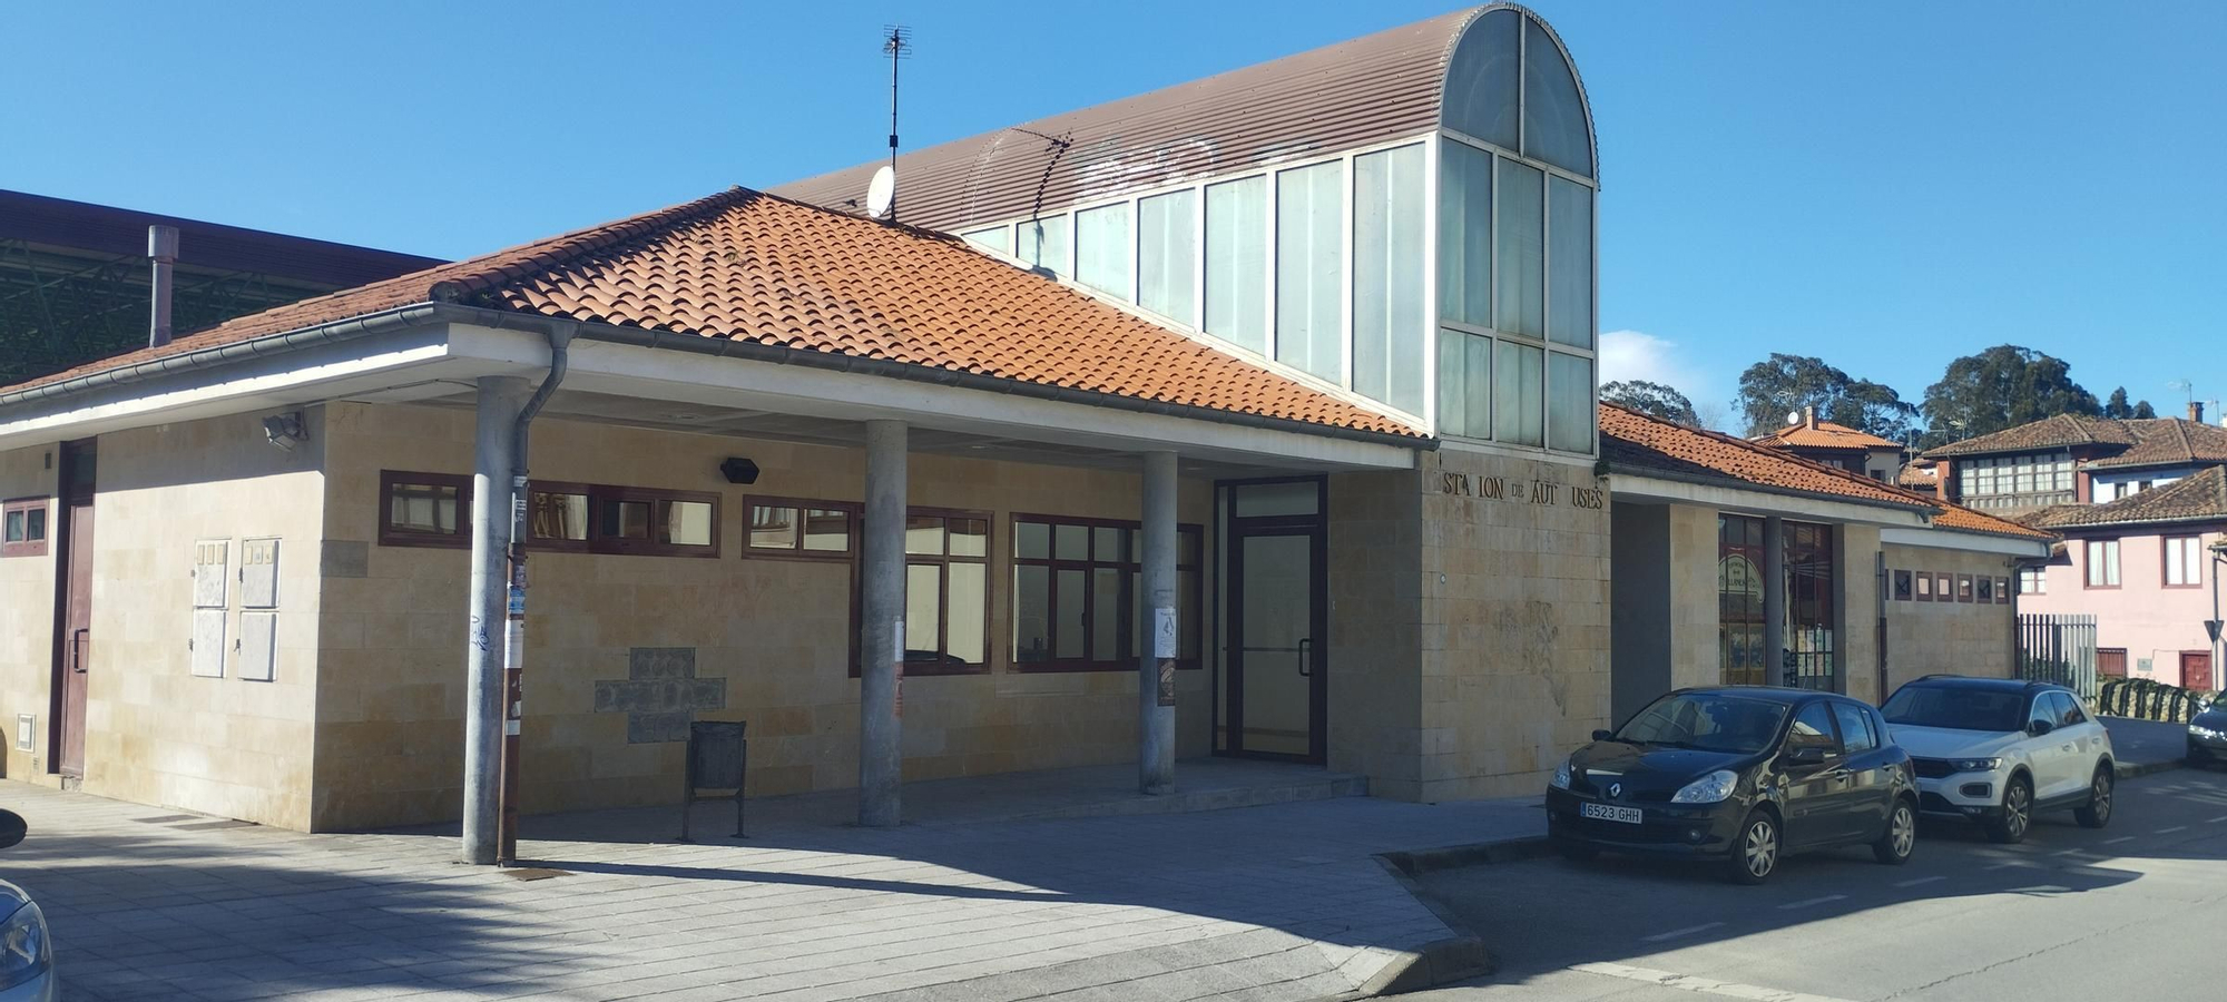
[[[1966,354],[1926,387],[1922,448],[2018,428],[2058,414],[2100,414],[2071,365],[2044,352],[1995,345]]]

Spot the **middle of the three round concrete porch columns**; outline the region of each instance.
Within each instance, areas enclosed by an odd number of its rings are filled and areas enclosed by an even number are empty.
[[[857,824],[902,817],[904,755],[904,421],[866,421],[866,519],[860,525],[864,623],[857,655]]]

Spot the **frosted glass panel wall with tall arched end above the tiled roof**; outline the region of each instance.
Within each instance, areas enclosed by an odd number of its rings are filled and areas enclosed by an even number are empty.
[[[1592,454],[1592,174],[1561,45],[1494,9],[1448,62],[1436,156],[1423,140],[1332,154],[962,236],[1396,412],[1436,412],[1439,434]]]

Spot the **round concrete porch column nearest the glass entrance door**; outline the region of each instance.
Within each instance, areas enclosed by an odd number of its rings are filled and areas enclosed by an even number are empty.
[[[1136,784],[1176,793],[1176,657],[1183,619],[1176,601],[1176,454],[1145,454],[1145,650],[1136,659]],[[1149,610],[1149,612],[1147,612]]]

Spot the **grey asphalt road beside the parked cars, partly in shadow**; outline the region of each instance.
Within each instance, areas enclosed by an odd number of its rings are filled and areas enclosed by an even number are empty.
[[[1906,866],[1791,857],[1766,886],[1664,862],[1559,857],[1423,877],[1499,973],[1416,1000],[2227,1000],[2227,773],[2120,784],[2089,831],[2022,846],[1929,822]]]

